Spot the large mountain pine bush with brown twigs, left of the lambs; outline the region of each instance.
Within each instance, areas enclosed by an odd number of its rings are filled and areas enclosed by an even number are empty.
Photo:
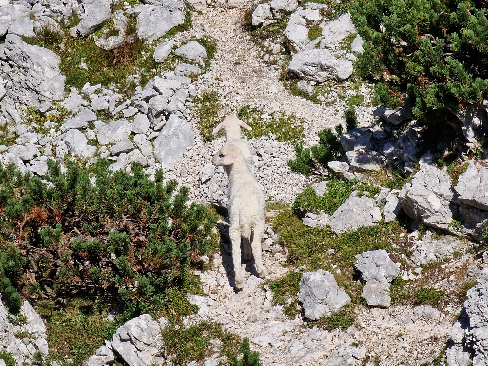
[[[0,167],[0,291],[13,310],[83,296],[147,312],[218,244],[213,214],[161,170],[150,180],[137,163],[129,174],[102,161],[94,175],[48,165],[47,182]]]

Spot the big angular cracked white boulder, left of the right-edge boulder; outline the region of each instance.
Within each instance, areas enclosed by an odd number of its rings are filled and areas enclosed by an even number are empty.
[[[455,206],[451,203],[454,190],[445,170],[421,163],[410,183],[399,194],[405,213],[427,226],[447,230]]]

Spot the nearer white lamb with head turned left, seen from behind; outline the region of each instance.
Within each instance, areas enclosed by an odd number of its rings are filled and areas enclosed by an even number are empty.
[[[264,234],[266,200],[264,192],[245,164],[242,151],[225,144],[213,157],[212,164],[223,166],[229,179],[229,219],[232,260],[236,273],[236,288],[242,290],[241,237],[244,242],[244,259],[254,256],[256,270],[261,278],[266,275],[261,260],[261,238]],[[251,243],[249,247],[249,243]]]

